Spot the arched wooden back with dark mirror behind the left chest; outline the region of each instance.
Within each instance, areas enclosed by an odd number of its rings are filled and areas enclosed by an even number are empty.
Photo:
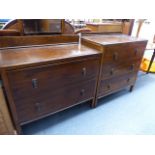
[[[61,21],[60,24],[60,31],[59,32],[52,32],[50,33],[51,27],[53,27],[52,24],[55,19],[40,19],[41,22],[38,22],[38,19],[31,19],[31,20],[24,20],[24,19],[15,19],[11,20],[9,23],[7,23],[3,29],[10,29],[10,30],[16,30],[20,32],[20,35],[34,35],[34,34],[46,34],[47,32],[41,32],[40,29],[45,28],[48,30],[47,34],[74,34],[74,28],[73,26],[65,21],[64,19],[57,19]],[[24,22],[27,22],[24,24]]]

